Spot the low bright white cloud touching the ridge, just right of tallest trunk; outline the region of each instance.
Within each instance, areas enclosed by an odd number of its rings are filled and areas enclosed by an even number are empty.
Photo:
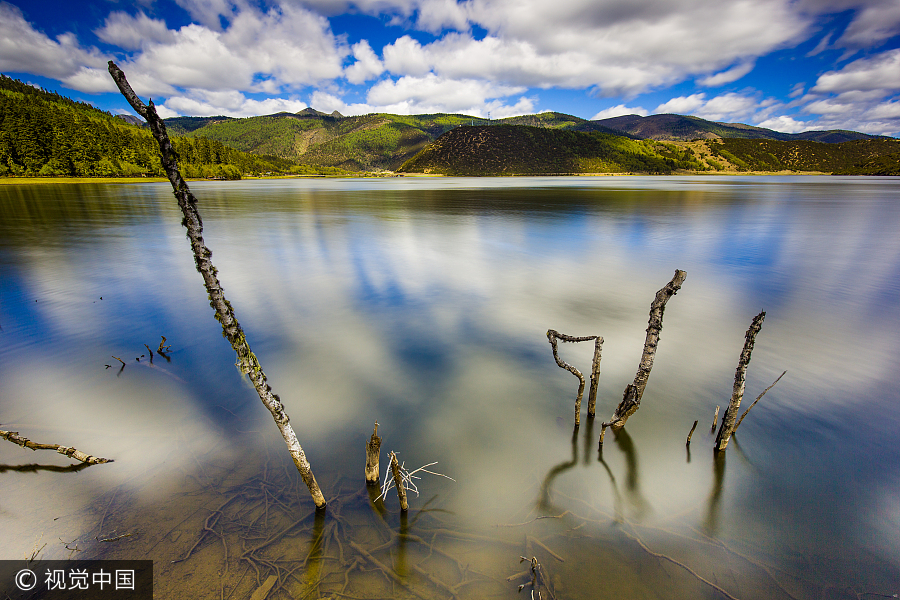
[[[164,104],[157,106],[157,111],[163,118],[180,115],[253,117],[277,112],[298,112],[306,106],[305,102],[293,98],[255,100],[236,91],[191,90],[189,95],[168,98]]]

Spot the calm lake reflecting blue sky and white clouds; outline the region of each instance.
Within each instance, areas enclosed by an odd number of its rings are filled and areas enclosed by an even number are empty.
[[[900,178],[191,185],[328,509],[168,184],[4,185],[0,429],[115,462],[0,440],[0,558],[151,558],[158,598],[271,575],[269,598],[521,598],[520,556],[560,599],[900,593]],[[640,410],[598,449],[676,269]],[[761,310],[741,410],[787,374],[714,456]],[[574,431],[548,329],[604,338]],[[590,373],[592,343],[560,355]],[[453,479],[418,473],[408,515],[365,487],[376,420],[382,473],[393,450]]]

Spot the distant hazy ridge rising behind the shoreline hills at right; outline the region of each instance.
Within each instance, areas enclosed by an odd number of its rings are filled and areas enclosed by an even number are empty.
[[[856,131],[805,131],[803,133],[782,133],[763,127],[740,123],[716,123],[699,117],[685,115],[625,115],[591,121],[611,129],[620,135],[630,135],[640,139],[690,141],[697,139],[744,138],[781,141],[812,140],[836,144],[853,140],[868,140],[878,136]]]

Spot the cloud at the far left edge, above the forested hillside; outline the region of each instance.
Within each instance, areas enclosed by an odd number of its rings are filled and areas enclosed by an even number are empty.
[[[33,73],[65,83],[83,68],[105,68],[107,60],[95,48],[83,48],[72,34],[51,39],[32,27],[18,7],[0,2],[0,72]]]

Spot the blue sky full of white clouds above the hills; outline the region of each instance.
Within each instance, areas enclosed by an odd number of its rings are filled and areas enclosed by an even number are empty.
[[[677,113],[900,135],[900,0],[0,0],[0,72],[163,117]]]

